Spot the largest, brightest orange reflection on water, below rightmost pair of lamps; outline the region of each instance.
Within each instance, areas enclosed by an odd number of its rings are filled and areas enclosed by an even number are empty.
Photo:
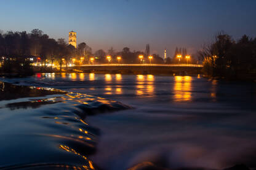
[[[174,77],[174,101],[191,100],[191,81],[190,76]]]

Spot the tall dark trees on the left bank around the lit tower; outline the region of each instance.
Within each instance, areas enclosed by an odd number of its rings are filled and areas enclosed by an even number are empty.
[[[31,33],[8,31],[0,33],[0,56],[2,71],[11,73],[33,72],[31,58],[41,63],[41,68],[53,67],[71,62],[71,56],[90,55],[91,48],[84,42],[79,44],[78,49],[68,45],[65,39],[49,38],[39,29],[33,29]],[[86,55],[84,55],[86,56]]]

